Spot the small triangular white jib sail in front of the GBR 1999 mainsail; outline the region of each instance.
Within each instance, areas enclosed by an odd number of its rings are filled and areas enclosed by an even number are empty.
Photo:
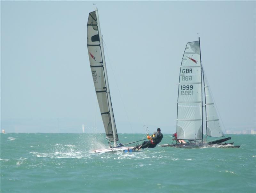
[[[203,70],[203,77],[205,77]],[[205,112],[206,112],[206,135],[210,137],[224,136],[219,116],[216,111],[214,101],[212,99],[211,90],[207,79],[204,78],[204,93],[205,93]]]

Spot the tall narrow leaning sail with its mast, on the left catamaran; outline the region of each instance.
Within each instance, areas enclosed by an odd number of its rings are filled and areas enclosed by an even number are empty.
[[[118,135],[108,86],[108,75],[97,8],[95,11],[89,13],[87,22],[87,48],[92,78],[107,139],[111,142],[114,141],[116,147]]]

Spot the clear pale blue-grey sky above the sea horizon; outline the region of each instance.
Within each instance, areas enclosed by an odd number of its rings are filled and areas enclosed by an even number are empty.
[[[86,42],[98,7],[118,133],[176,130],[180,64],[200,36],[226,130],[255,129],[255,1],[0,1],[0,129],[104,132]]]

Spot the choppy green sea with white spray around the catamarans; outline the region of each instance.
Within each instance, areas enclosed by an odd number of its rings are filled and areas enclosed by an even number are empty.
[[[92,153],[104,134],[1,133],[0,192],[256,192],[256,135],[240,148]],[[118,134],[122,143],[144,134]],[[160,144],[171,143],[164,134]],[[132,144],[133,145],[133,144]]]

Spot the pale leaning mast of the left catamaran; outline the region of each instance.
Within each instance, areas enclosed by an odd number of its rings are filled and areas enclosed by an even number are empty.
[[[115,130],[115,122],[114,122],[114,113],[111,105],[111,98],[110,98],[110,92],[109,92],[109,85],[108,85],[108,74],[106,69],[106,61],[105,61],[105,55],[104,55],[104,49],[103,49],[103,43],[102,43],[102,36],[100,31],[100,20],[98,15],[98,8],[95,8],[96,18],[97,18],[97,25],[98,25],[98,32],[99,32],[99,38],[100,38],[100,50],[101,50],[101,56],[103,61],[103,71],[105,75],[105,82],[106,82],[106,90],[107,90],[107,97],[108,97],[108,108],[109,108],[109,114],[110,114],[110,122],[111,122],[111,128],[114,138],[114,146],[116,147],[116,130]]]

